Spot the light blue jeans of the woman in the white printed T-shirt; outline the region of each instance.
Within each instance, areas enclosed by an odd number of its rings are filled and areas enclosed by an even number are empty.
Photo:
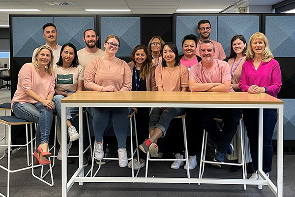
[[[58,112],[57,119],[58,119],[59,127],[61,126],[61,101],[60,101],[61,99],[64,99],[62,95],[56,95],[53,97],[53,101],[56,106],[56,111]],[[66,107],[65,111],[66,111],[66,120],[72,120],[72,117],[75,114],[79,113],[79,107]]]

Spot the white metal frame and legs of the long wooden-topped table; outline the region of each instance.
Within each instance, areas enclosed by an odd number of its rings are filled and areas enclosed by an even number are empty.
[[[169,102],[169,101],[167,101]],[[62,147],[66,147],[66,107],[79,107],[79,114],[83,114],[82,107],[183,107],[183,108],[258,108],[259,109],[259,152],[258,173],[259,180],[243,179],[211,179],[211,178],[152,178],[152,177],[84,177],[83,167],[83,132],[79,139],[79,167],[67,182],[66,149],[62,149],[61,160],[61,194],[67,197],[68,191],[75,182],[83,185],[84,182],[130,182],[130,183],[201,183],[201,184],[239,184],[239,185],[267,185],[277,197],[283,197],[283,113],[284,104],[210,104],[210,103],[89,103],[89,102],[61,102],[61,139]],[[277,186],[266,176],[262,169],[263,151],[263,109],[277,109]],[[79,116],[79,131],[83,131],[83,116]]]

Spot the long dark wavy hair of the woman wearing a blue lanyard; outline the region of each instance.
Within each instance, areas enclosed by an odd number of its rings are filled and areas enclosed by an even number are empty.
[[[141,67],[141,72],[140,72],[139,77],[141,79],[145,79],[148,76],[149,70],[152,65],[151,60],[150,60],[150,55],[148,53],[148,48],[143,44],[137,45],[134,48],[134,50],[132,51],[130,58],[131,58],[132,62],[134,62],[136,64],[134,56],[135,56],[136,51],[141,50],[141,49],[143,49],[145,51],[147,58],[146,58],[145,62],[143,63],[143,66]]]

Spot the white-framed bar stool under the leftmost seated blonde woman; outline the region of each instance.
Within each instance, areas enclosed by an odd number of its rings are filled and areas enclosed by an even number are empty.
[[[14,173],[14,172],[19,172],[19,171],[23,171],[23,170],[26,170],[26,169],[32,169],[32,175],[41,180],[42,182],[50,185],[50,186],[53,186],[54,185],[54,182],[53,182],[53,174],[52,174],[52,167],[51,167],[51,164],[49,164],[49,168],[50,168],[50,172],[51,172],[51,183],[49,182],[46,182],[45,180],[43,180],[43,178],[45,176],[43,176],[43,166],[44,164],[38,164],[38,165],[34,165],[33,164],[33,138],[32,138],[32,123],[33,122],[30,122],[30,121],[27,121],[27,120],[23,120],[23,119],[19,119],[17,118],[16,116],[0,116],[0,123],[1,124],[4,124],[5,126],[8,126],[8,144],[6,145],[4,143],[4,145],[0,145],[0,147],[8,147],[8,150],[11,148],[11,147],[22,147],[22,146],[26,146],[27,147],[27,163],[28,163],[28,167],[23,167],[23,168],[19,168],[19,169],[16,169],[16,170],[11,170],[10,169],[10,151],[8,151],[8,158],[7,158],[7,167],[4,167],[3,165],[0,165],[0,168],[4,169],[7,171],[7,197],[9,197],[9,189],[10,189],[10,173]],[[11,144],[11,126],[13,125],[26,125],[26,144],[22,144],[22,145],[12,145]],[[29,137],[28,137],[28,125],[30,125],[30,137],[31,137],[31,140],[29,141]],[[5,138],[5,136],[4,136]],[[31,164],[29,164],[29,144],[30,144],[30,147],[31,147]],[[50,160],[50,158],[49,158]],[[31,166],[29,166],[31,165]],[[34,174],[34,167],[39,167],[39,166],[42,166],[41,168],[41,176],[38,177]],[[3,196],[5,197],[3,194],[0,193],[0,196]]]

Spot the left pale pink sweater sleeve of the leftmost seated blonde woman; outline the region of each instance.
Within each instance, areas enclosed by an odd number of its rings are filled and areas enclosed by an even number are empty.
[[[33,89],[32,78],[33,78],[33,73],[32,73],[31,67],[25,64],[19,72],[19,81],[20,81],[20,84],[22,85],[24,92],[27,92],[28,90]]]

